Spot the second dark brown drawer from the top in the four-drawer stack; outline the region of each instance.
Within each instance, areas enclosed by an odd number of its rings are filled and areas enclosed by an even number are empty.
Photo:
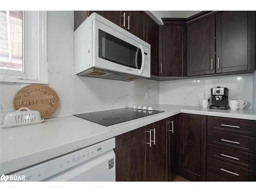
[[[249,152],[249,137],[208,130],[208,143]]]

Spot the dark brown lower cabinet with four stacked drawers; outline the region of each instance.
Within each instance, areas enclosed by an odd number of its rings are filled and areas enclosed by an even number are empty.
[[[255,122],[207,117],[207,181],[256,180]]]

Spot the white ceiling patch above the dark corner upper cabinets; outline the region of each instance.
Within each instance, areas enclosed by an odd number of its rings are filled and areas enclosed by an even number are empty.
[[[146,13],[159,25],[163,25],[162,17],[187,18],[201,11],[146,11]]]

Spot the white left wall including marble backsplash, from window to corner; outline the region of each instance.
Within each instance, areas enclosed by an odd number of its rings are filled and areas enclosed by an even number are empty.
[[[54,116],[124,108],[159,102],[159,82],[124,82],[76,76],[74,73],[73,11],[48,12],[49,86],[59,95],[60,106]],[[15,93],[27,84],[0,83],[1,123],[12,112]],[[148,92],[148,100],[144,100]]]

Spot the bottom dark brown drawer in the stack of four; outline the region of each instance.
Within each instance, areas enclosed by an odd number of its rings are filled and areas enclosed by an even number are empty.
[[[248,181],[249,169],[207,158],[207,181]]]

